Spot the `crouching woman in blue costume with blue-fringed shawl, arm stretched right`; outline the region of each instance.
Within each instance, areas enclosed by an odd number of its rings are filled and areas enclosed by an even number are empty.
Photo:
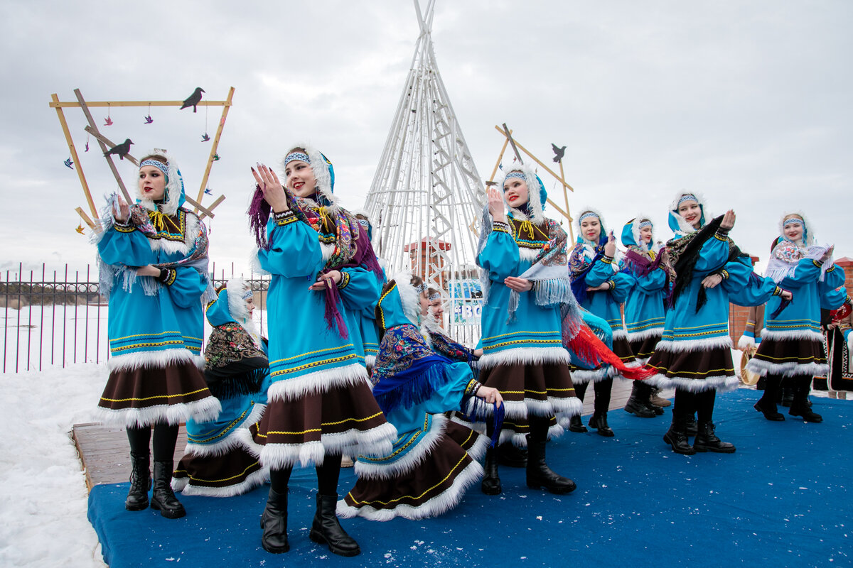
[[[392,451],[358,456],[358,481],[338,503],[341,517],[436,516],[456,507],[483,474],[476,460],[489,439],[441,413],[461,410],[472,397],[498,407],[501,395],[477,382],[467,363],[432,350],[421,329],[427,294],[415,287],[424,288],[421,278],[397,275],[376,306],[382,340],[374,396],[399,438]]]

